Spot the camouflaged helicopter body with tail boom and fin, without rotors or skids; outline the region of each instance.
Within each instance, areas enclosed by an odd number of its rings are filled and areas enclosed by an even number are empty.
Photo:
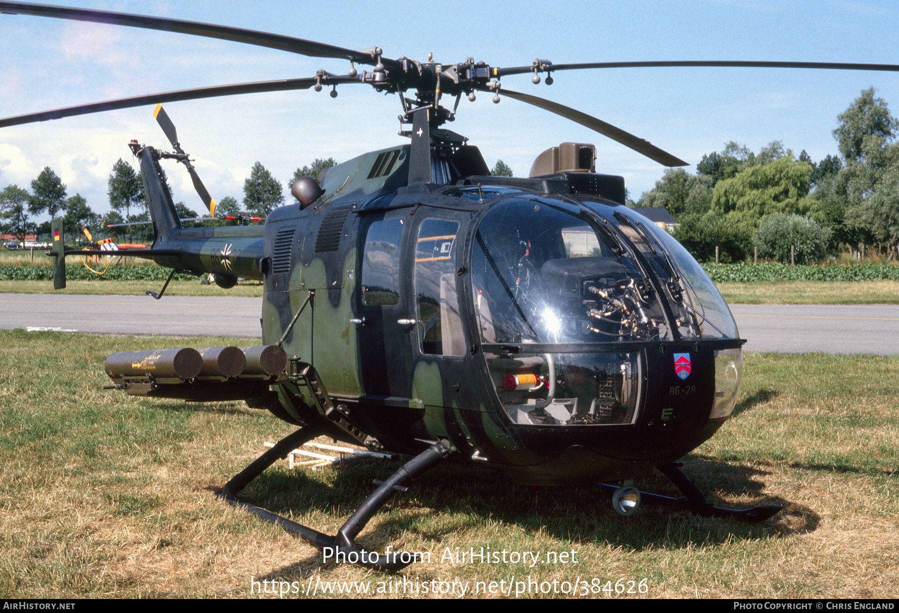
[[[329,417],[302,376],[247,399],[288,422],[409,454],[441,440],[528,483],[585,484],[650,475],[733,409],[733,317],[621,204],[620,177],[491,177],[458,147],[436,158],[452,181],[410,186],[409,147],[393,147],[329,169],[321,198],[264,227],[182,229],[152,150],[138,156],[156,260],[226,287],[263,280],[263,342],[317,373]]]

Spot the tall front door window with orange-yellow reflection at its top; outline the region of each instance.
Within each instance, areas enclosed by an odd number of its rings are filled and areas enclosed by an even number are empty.
[[[456,249],[458,221],[425,219],[415,243],[415,306],[422,352],[465,355],[458,315]]]

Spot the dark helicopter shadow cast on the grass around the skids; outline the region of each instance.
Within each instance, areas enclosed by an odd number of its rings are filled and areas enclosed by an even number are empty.
[[[814,511],[761,493],[765,484],[760,477],[767,474],[762,470],[695,456],[684,458],[684,463],[685,471],[707,494],[708,502],[725,507],[782,504],[788,508],[758,525],[702,518],[688,511],[649,504],[641,506],[634,516],[622,517],[612,510],[610,495],[596,487],[535,490],[497,471],[448,462],[418,477],[408,493],[396,494],[356,541],[369,551],[383,552],[387,546],[400,550],[414,538],[428,543],[426,548],[432,557],[439,558],[449,544],[465,549],[469,546],[511,548],[512,545],[496,542],[497,522],[509,526],[510,538],[520,539],[521,545],[514,545],[519,549],[532,547],[529,537],[521,537],[522,530],[534,537],[557,538],[560,549],[576,544],[624,546],[640,551],[781,537],[817,528],[820,518]],[[360,460],[316,472],[269,469],[247,486],[240,498],[334,534],[373,490],[372,479],[386,478],[401,464],[402,460]],[[681,496],[662,475],[644,479],[637,485],[648,492]],[[315,525],[316,521],[325,521],[326,525]],[[322,555],[316,553],[280,569],[273,576],[284,577],[285,573],[307,576],[321,562]]]

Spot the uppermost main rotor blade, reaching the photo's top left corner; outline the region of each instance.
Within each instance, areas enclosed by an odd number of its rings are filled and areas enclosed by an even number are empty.
[[[180,19],[135,15],[129,13],[112,13],[110,11],[94,11],[92,9],[72,8],[68,6],[50,6],[48,4],[31,4],[25,2],[0,2],[0,13],[25,14],[38,17],[55,17],[77,22],[111,23],[132,28],[145,28],[204,36],[209,39],[233,40],[257,47],[280,49],[290,53],[311,56],[313,58],[349,59],[360,64],[375,65],[378,59],[364,51],[354,51],[325,45],[315,40],[295,39],[290,36],[271,34],[269,32],[244,30],[212,23],[186,22]],[[388,61],[388,60],[387,60]]]

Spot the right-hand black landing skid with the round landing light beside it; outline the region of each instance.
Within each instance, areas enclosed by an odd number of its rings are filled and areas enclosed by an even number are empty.
[[[684,498],[672,498],[671,496],[663,496],[658,493],[638,492],[636,495],[636,503],[648,502],[651,504],[668,504],[681,509],[686,509],[687,511],[696,513],[702,517],[720,517],[740,520],[751,524],[767,520],[783,509],[783,506],[779,504],[762,504],[757,507],[752,507],[752,509],[724,509],[722,507],[713,506],[711,502],[706,500],[706,497],[702,492],[699,491],[696,484],[690,481],[690,477],[683,474],[681,466],[683,465],[680,462],[672,462],[671,464],[658,466],[658,469],[659,472],[671,479],[673,484],[677,485],[677,488],[684,494]],[[600,486],[607,492],[615,493],[612,506],[615,507],[616,511],[619,511],[622,515],[628,515],[633,511],[636,511],[636,506],[630,508],[628,512],[619,510],[619,500],[622,498],[622,490],[625,489],[624,487],[617,487],[609,484],[600,484]],[[634,488],[631,487],[630,489]]]

